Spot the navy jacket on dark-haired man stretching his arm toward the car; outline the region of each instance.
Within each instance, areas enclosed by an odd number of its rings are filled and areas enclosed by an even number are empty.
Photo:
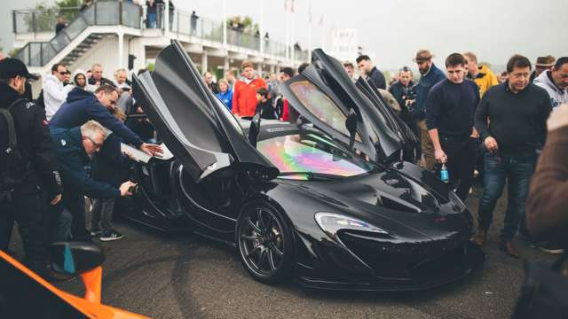
[[[90,120],[98,121],[105,128],[113,131],[117,136],[128,144],[140,147],[143,143],[140,137],[127,128],[122,121],[114,117],[99,99],[91,92],[75,88],[67,95],[67,101],[59,107],[59,110],[50,121],[52,128],[76,128]]]

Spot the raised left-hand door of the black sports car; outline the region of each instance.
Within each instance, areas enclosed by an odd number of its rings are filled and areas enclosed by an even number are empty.
[[[154,72],[133,76],[133,95],[196,183],[228,167],[264,180],[279,174],[207,89],[180,43],[158,53]]]

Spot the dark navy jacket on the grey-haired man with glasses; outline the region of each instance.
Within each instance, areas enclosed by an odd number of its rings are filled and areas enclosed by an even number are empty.
[[[87,175],[90,159],[83,147],[81,128],[51,128],[53,148],[66,191],[78,191],[90,198],[120,198],[121,191],[113,185],[96,182]]]

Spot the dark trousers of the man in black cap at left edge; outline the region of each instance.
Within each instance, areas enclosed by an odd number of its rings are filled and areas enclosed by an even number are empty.
[[[24,246],[24,264],[40,276],[47,265],[47,229],[45,224],[46,199],[42,191],[13,193],[12,200],[0,202],[0,250],[10,244],[14,221]]]

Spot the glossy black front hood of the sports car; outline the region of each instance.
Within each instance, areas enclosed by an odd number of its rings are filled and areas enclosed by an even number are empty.
[[[331,213],[371,222],[397,237],[444,239],[463,235],[471,226],[462,214],[465,206],[395,169],[335,182],[304,182],[296,191],[333,207]]]

